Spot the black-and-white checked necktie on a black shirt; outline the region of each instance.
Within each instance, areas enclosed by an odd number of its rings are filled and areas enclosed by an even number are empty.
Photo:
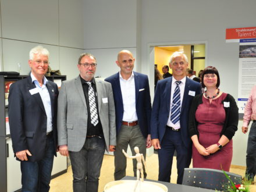
[[[97,113],[97,106],[95,102],[95,95],[93,87],[91,86],[91,82],[86,82],[89,86],[88,89],[88,98],[89,98],[89,106],[90,106],[90,113],[91,113],[91,124],[96,126],[98,124],[98,113]]]

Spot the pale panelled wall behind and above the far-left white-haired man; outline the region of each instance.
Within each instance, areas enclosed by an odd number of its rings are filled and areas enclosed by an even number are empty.
[[[67,79],[78,74],[76,64],[84,52],[83,0],[1,0],[1,70],[28,74],[29,51],[42,45],[50,52],[52,70],[60,69]],[[69,70],[67,70],[69,69]]]

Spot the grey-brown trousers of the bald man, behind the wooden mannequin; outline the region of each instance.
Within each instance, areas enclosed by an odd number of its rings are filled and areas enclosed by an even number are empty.
[[[144,155],[146,158],[146,140],[141,133],[140,126],[126,126],[122,125],[116,140],[116,151],[115,155],[115,180],[120,180],[126,176],[126,157],[122,150],[127,152],[128,145],[130,145],[131,153],[133,156],[136,154],[134,147],[138,147],[140,154]],[[133,173],[134,177],[137,176],[137,160],[133,159]],[[143,175],[144,178],[147,177],[145,168],[143,165]]]

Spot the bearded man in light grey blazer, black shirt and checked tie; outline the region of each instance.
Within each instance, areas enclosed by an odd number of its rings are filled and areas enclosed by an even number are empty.
[[[58,145],[69,156],[73,191],[98,191],[104,151],[116,145],[111,84],[94,78],[96,58],[81,54],[79,76],[63,81],[58,98]]]

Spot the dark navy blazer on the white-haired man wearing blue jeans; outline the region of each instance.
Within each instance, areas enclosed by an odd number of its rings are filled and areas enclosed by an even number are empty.
[[[54,131],[56,156],[56,115],[59,91],[57,85],[52,81],[48,81],[46,86],[51,98],[52,129]],[[27,157],[31,162],[44,158],[45,148],[47,147],[47,115],[40,94],[30,94],[29,90],[33,88],[35,88],[35,84],[32,83],[30,76],[13,83],[9,90],[8,106],[13,152],[29,150],[32,156]]]

